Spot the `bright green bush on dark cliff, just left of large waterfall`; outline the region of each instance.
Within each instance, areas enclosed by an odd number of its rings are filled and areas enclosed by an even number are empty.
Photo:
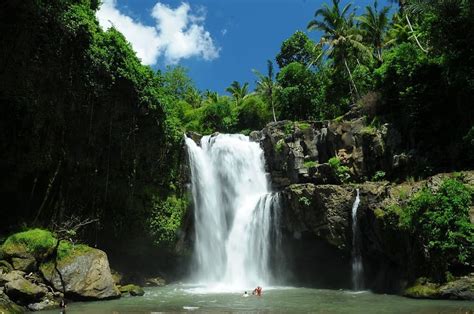
[[[187,207],[187,200],[175,195],[169,196],[164,201],[153,199],[149,227],[157,245],[172,245],[176,241]]]

